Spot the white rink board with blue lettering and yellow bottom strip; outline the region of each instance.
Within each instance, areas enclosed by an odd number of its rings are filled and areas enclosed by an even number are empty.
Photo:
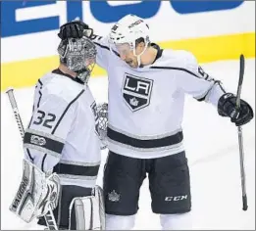
[[[33,85],[58,66],[59,26],[79,18],[106,36],[127,14],[150,39],[192,52],[199,63],[255,57],[254,1],[5,1],[1,4],[1,90]],[[106,75],[96,67],[93,76]]]

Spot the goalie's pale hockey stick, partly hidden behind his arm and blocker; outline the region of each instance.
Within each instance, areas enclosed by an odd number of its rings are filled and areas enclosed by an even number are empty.
[[[23,120],[21,118],[21,115],[19,113],[18,110],[18,105],[14,96],[14,89],[13,88],[8,88],[6,93],[8,94],[8,98],[9,101],[11,103],[14,115],[15,115],[15,119],[16,122],[18,124],[22,139],[24,139],[24,135],[25,135],[25,129],[24,129],[24,124],[23,124]],[[56,224],[56,220],[55,217],[53,215],[52,209],[49,209],[48,212],[44,215],[45,218],[45,222],[47,224],[47,227],[49,230],[58,230],[57,224]]]

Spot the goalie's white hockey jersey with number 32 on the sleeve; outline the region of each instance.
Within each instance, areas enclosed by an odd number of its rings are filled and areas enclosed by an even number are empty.
[[[62,185],[94,187],[100,166],[96,104],[87,85],[55,69],[36,84],[26,159],[59,174]]]

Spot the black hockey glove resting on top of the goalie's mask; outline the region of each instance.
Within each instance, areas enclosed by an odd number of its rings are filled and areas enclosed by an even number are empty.
[[[67,38],[81,38],[83,35],[90,38],[93,34],[93,29],[90,28],[86,23],[81,21],[73,21],[61,25],[58,36],[61,39]]]

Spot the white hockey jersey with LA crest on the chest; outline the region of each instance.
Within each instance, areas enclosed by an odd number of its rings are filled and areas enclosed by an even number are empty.
[[[184,94],[217,105],[225,93],[186,51],[158,50],[153,64],[131,69],[106,38],[93,38],[97,64],[108,72],[108,148],[120,155],[151,159],[183,151]]]

